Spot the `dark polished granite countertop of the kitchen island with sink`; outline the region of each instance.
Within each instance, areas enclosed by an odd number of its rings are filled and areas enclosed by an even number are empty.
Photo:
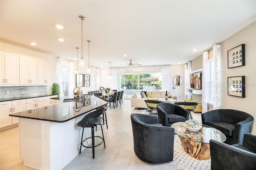
[[[91,95],[82,97],[82,103],[79,101],[63,101],[64,98],[60,98],[56,105],[12,113],[9,116],[63,123],[108,104],[108,102]]]

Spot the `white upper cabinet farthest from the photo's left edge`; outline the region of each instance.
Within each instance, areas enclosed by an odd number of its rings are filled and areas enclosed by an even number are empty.
[[[38,84],[52,84],[51,61],[38,59]]]

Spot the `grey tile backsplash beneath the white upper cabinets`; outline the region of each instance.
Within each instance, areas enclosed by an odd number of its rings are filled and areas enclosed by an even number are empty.
[[[8,94],[9,93],[9,94]],[[0,99],[46,95],[47,86],[0,87]]]

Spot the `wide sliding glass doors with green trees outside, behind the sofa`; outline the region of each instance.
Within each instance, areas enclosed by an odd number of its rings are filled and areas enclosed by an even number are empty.
[[[125,99],[140,91],[161,91],[162,72],[120,73],[120,89],[124,90]]]

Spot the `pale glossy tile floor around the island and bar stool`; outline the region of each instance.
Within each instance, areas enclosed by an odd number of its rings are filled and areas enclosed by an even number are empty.
[[[63,170],[170,170],[165,164],[148,164],[138,159],[133,150],[131,113],[141,111],[131,110],[130,100],[117,108],[113,105],[107,110],[108,129],[104,125],[104,144],[95,148],[95,158],[92,149],[85,148]],[[201,121],[201,114],[192,113],[194,119]],[[101,131],[97,130],[98,133]],[[33,170],[23,166],[19,157],[18,127],[0,132],[0,169],[1,170]]]

